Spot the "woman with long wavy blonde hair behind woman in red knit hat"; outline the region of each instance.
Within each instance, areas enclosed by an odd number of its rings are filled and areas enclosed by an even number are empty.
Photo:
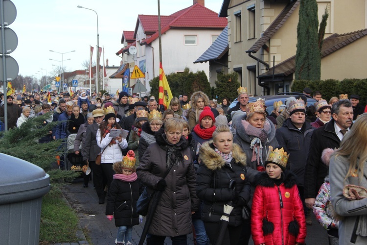
[[[186,118],[188,118],[188,125],[190,131],[199,124],[199,116],[202,113],[205,106],[209,106],[209,98],[201,91],[197,91],[191,96],[191,108],[187,112]],[[215,117],[214,117],[215,118]]]

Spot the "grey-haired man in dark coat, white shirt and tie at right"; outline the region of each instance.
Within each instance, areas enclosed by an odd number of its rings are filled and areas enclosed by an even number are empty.
[[[304,173],[304,198],[308,208],[312,208],[321,184],[329,174],[329,166],[321,161],[322,151],[326,148],[339,148],[344,134],[352,125],[353,108],[350,101],[342,99],[335,102],[331,108],[331,116],[332,119],[315,129],[311,136]]]

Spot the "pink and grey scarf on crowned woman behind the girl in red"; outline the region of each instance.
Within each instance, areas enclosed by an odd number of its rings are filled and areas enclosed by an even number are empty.
[[[250,143],[250,148],[252,148],[251,161],[256,161],[258,171],[265,171],[264,161],[262,159],[262,150],[263,145],[269,142],[268,133],[270,133],[272,128],[269,122],[266,120],[264,123],[264,128],[254,127],[246,120],[241,120],[241,123],[247,135],[249,135],[250,139],[252,139]]]

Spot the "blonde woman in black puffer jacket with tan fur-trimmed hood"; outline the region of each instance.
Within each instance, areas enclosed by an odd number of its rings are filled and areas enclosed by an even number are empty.
[[[206,234],[215,244],[228,201],[235,206],[229,215],[229,223],[223,244],[237,245],[242,231],[242,207],[250,201],[250,183],[246,176],[246,154],[233,144],[233,135],[227,125],[220,125],[213,133],[213,141],[204,143],[199,150],[200,167],[197,172],[196,192],[204,201],[202,220]],[[235,180],[235,188],[229,183]]]

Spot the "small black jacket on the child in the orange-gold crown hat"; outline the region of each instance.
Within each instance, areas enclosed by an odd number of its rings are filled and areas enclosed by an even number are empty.
[[[139,224],[137,201],[139,198],[139,180],[124,182],[114,179],[108,190],[106,215],[114,215],[115,225]]]

